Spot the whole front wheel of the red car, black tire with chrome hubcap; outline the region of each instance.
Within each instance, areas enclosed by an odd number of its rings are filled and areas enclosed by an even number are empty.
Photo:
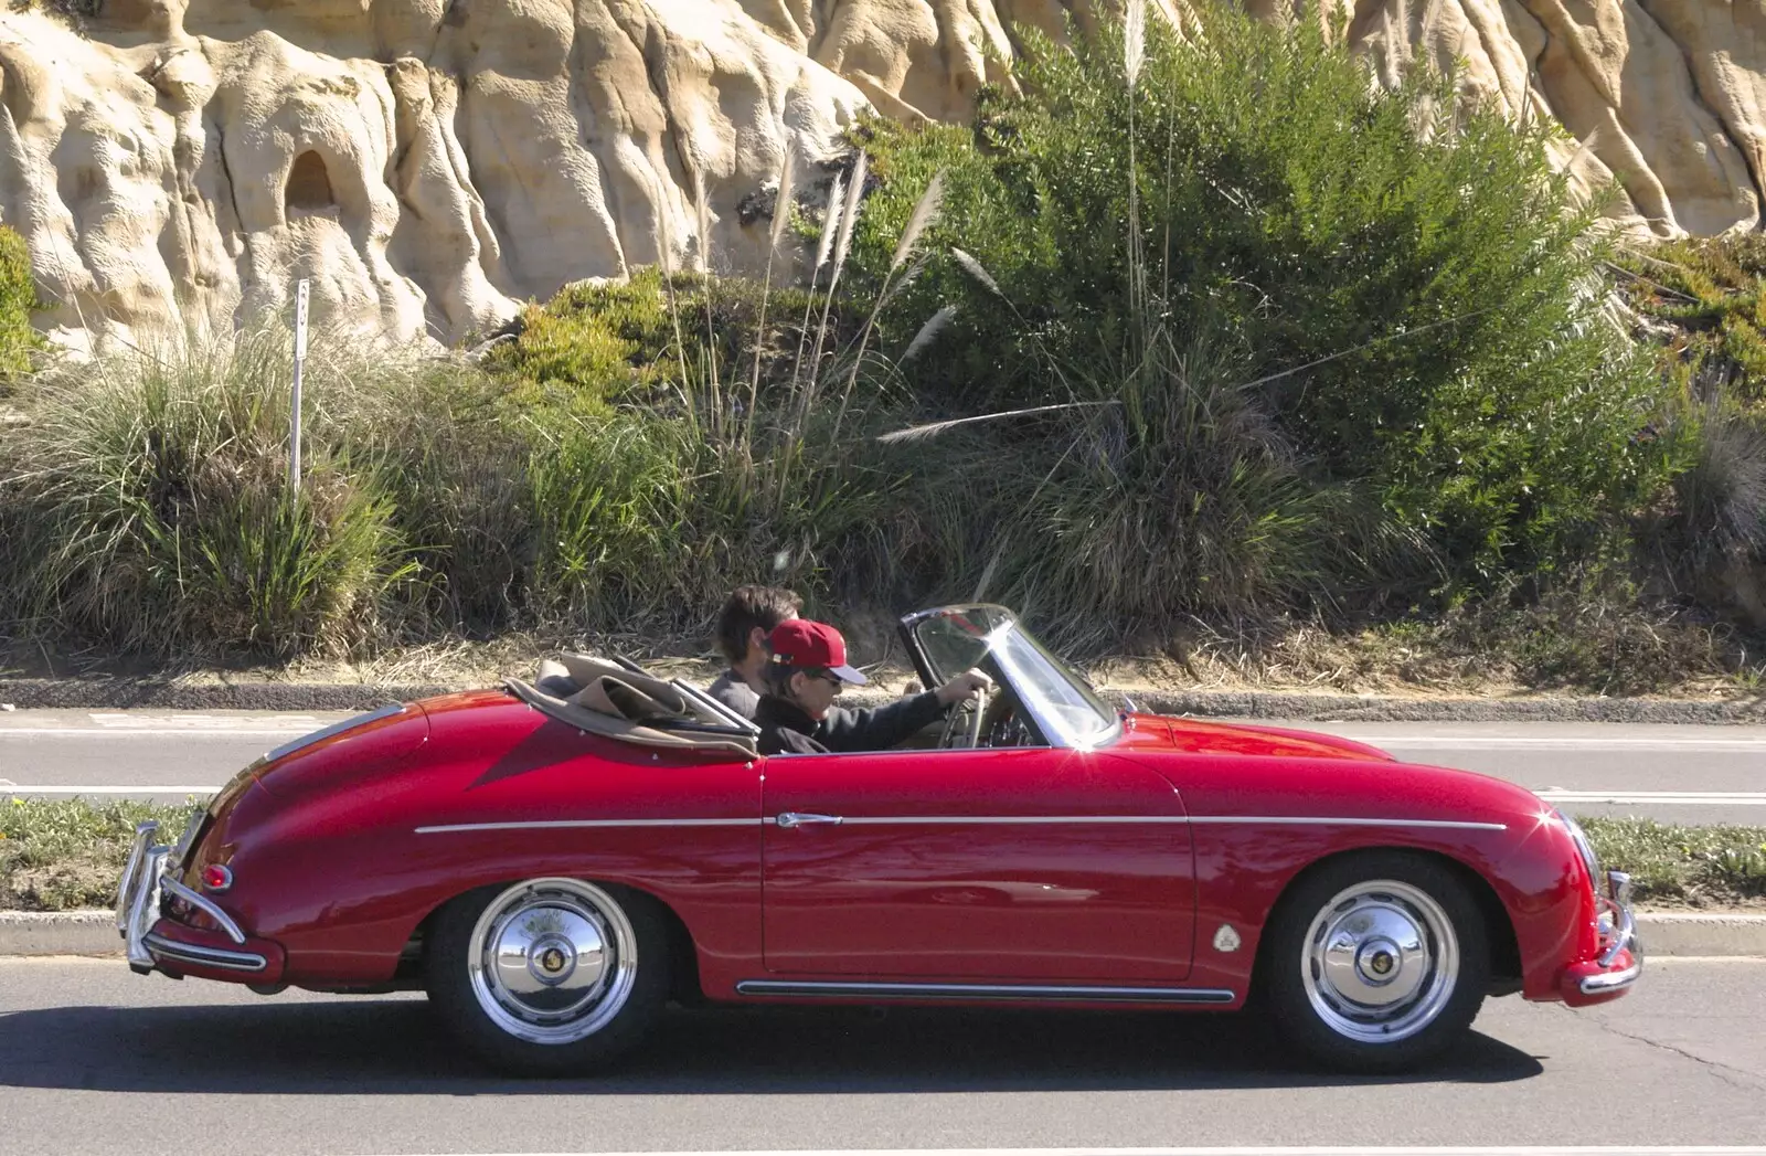
[[[1259,979],[1275,1029],[1310,1059],[1339,1071],[1413,1069],[1469,1032],[1491,979],[1489,928],[1448,864],[1347,856],[1282,896]]]

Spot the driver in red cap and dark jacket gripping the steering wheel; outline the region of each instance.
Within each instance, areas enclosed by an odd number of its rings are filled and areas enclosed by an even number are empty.
[[[825,755],[885,751],[938,721],[954,703],[992,686],[970,670],[936,691],[913,695],[872,711],[834,711],[834,696],[867,679],[846,665],[846,640],[826,622],[786,619],[768,640],[772,659],[759,672],[766,691],[754,711],[761,755]]]

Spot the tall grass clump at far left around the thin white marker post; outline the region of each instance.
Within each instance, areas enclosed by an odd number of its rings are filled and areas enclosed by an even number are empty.
[[[411,573],[394,504],[323,419],[290,490],[286,350],[260,331],[41,382],[0,467],[5,617],[159,658],[371,640]],[[314,369],[323,408],[348,382]]]

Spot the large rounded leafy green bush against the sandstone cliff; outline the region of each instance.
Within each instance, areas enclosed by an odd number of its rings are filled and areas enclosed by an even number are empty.
[[[1095,401],[1164,334],[1224,334],[1300,475],[1370,488],[1376,536],[1427,546],[1369,583],[1395,601],[1595,550],[1669,463],[1634,437],[1657,378],[1602,316],[1593,210],[1543,133],[1459,111],[1452,78],[1370,85],[1312,21],[1199,19],[1148,30],[1132,99],[1118,30],[1031,35],[1024,94],[984,94],[971,129],[858,133],[881,186],[857,286],[947,173],[938,256],[885,315],[899,348],[957,306],[911,380],[945,415]]]

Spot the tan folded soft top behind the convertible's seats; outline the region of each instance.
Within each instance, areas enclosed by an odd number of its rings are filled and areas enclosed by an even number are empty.
[[[752,758],[758,749],[751,735],[733,734],[726,719],[678,688],[590,654],[547,659],[540,663],[537,681],[558,688],[563,696],[521,679],[503,679],[503,684],[528,705],[577,730],[664,751]]]

